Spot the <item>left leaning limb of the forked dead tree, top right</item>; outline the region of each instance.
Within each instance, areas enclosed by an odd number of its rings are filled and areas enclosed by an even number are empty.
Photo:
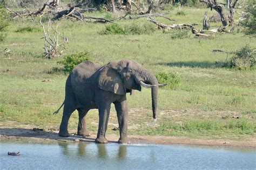
[[[217,11],[220,15],[222,25],[227,26],[227,18],[225,16],[222,4],[217,3],[217,0],[200,0],[200,2],[206,3],[208,8],[211,8],[211,10],[214,9],[215,11]]]

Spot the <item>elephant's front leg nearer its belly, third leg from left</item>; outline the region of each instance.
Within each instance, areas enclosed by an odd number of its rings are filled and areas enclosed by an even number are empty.
[[[99,105],[99,129],[96,138],[96,143],[105,144],[107,139],[105,137],[107,130],[107,122],[109,122],[110,105],[102,103]]]

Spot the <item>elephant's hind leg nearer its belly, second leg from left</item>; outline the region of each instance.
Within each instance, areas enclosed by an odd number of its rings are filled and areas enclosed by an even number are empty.
[[[90,136],[90,132],[86,127],[86,114],[89,111],[88,109],[77,108],[79,114],[77,135],[79,136]]]

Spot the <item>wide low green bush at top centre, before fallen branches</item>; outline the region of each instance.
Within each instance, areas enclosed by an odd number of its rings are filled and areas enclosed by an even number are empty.
[[[110,24],[100,34],[150,34],[156,28],[152,24],[132,23],[131,25]]]

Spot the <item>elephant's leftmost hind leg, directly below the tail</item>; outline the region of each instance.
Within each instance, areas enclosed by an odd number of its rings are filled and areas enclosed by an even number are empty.
[[[62,123],[60,123],[60,126],[59,126],[59,136],[69,137],[69,132],[68,132],[69,118],[72,112],[75,110],[76,110],[76,104],[74,102],[65,102],[63,115],[62,115]]]

